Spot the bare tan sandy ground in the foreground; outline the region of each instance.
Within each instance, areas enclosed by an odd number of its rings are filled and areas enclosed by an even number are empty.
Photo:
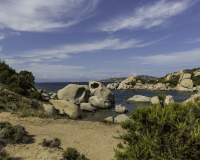
[[[76,121],[67,119],[40,119],[36,117],[18,118],[10,113],[0,113],[0,121],[13,125],[23,125],[32,137],[29,144],[7,145],[5,150],[16,160],[57,160],[68,147],[76,148],[90,160],[110,160],[123,130],[119,124]],[[43,139],[61,140],[61,149],[51,149],[38,145]]]

